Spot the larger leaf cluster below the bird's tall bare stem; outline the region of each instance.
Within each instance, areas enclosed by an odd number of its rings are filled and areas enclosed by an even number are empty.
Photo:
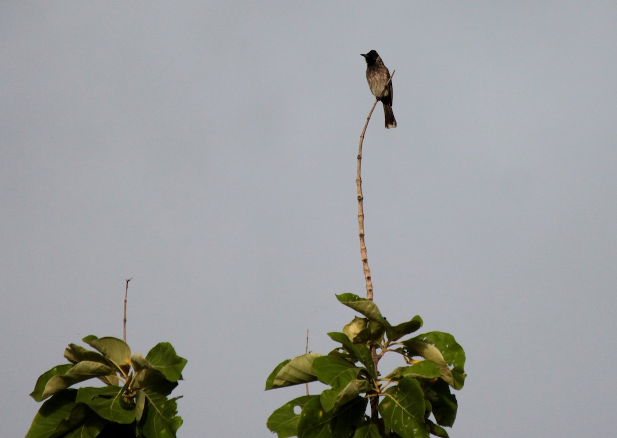
[[[450,389],[462,389],[465,382],[462,347],[442,332],[401,340],[421,328],[420,316],[392,326],[373,301],[354,294],[336,297],[363,318],[355,317],[341,333],[328,333],[340,344],[328,355],[308,353],[281,362],[265,387],[320,381],[328,389],[276,409],[268,429],[278,438],[447,437],[444,426],[451,427],[457,414]],[[405,366],[382,377],[376,368],[385,353],[399,354]],[[370,416],[366,407],[373,397],[381,402],[378,415]]]

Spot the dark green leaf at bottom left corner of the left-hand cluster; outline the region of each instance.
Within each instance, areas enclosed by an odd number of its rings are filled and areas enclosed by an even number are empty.
[[[26,438],[48,438],[70,431],[66,421],[75,407],[76,393],[75,389],[66,389],[44,402],[32,420]]]

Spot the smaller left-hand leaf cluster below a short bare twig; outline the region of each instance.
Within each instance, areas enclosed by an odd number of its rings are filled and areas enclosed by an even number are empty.
[[[57,365],[36,381],[30,396],[46,400],[26,438],[146,437],[171,438],[182,424],[176,400],[168,398],[182,379],[186,359],[160,342],[144,358],[131,355],[121,339],[90,335],[93,347],[69,344],[68,364]],[[71,386],[98,379],[102,386]]]

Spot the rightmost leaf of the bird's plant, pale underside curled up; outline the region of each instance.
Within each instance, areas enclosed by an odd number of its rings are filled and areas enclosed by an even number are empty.
[[[433,331],[420,334],[402,342],[410,357],[421,356],[436,362],[441,370],[441,378],[454,389],[465,384],[465,351],[449,333]],[[452,368],[450,368],[452,366]]]

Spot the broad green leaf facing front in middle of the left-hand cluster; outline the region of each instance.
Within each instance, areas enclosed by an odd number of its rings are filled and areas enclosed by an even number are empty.
[[[126,387],[106,386],[78,389],[75,401],[85,403],[102,418],[115,423],[128,424],[135,421],[135,406],[125,398]]]

